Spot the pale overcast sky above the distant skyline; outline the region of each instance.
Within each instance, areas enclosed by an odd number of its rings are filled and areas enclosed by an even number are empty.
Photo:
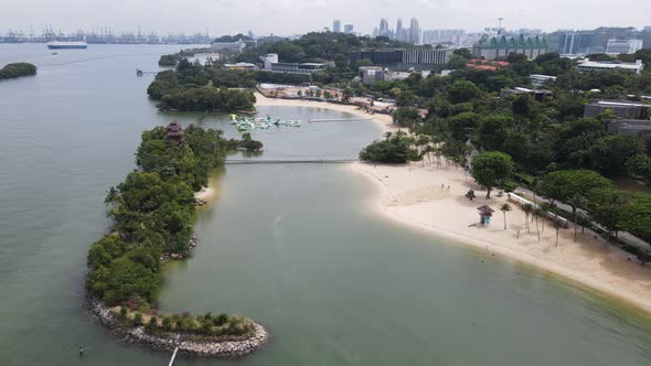
[[[289,35],[332,26],[333,19],[363,34],[380,18],[395,28],[412,17],[421,29],[481,30],[504,18],[508,29],[594,29],[651,25],[651,0],[0,0],[0,33],[30,25],[71,32],[110,26],[116,32],[169,32],[211,35],[252,30]]]

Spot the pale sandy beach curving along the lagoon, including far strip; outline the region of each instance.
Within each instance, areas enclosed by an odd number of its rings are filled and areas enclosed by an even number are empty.
[[[301,106],[341,110],[373,119],[382,131],[394,129],[386,115],[369,115],[354,106],[318,101],[266,98],[256,95],[260,106]],[[504,216],[499,206],[505,195],[485,200],[485,191],[472,177],[456,166],[439,168],[414,163],[410,165],[372,165],[354,163],[351,171],[362,174],[376,187],[373,206],[396,222],[433,235],[450,238],[493,254],[506,256],[570,280],[586,284],[606,294],[619,298],[651,312],[651,266],[640,266],[632,255],[606,245],[586,230],[574,241],[574,229],[561,229],[558,245],[556,232],[547,222],[538,220],[541,239],[535,223],[525,228],[525,215],[516,205]],[[441,187],[442,184],[442,187]],[[448,187],[449,186],[449,187]],[[477,198],[465,197],[469,189]],[[479,223],[477,207],[489,205],[495,211],[490,226]]]

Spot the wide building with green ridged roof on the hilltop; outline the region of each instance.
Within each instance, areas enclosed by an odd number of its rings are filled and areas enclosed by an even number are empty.
[[[495,60],[506,57],[511,53],[523,54],[529,58],[535,58],[548,52],[547,41],[541,36],[520,36],[488,37],[481,40],[472,47],[476,57],[483,60]]]

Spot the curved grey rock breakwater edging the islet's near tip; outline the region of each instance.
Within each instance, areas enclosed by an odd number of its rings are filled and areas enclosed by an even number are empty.
[[[260,324],[254,323],[252,335],[242,337],[230,337],[225,340],[202,340],[201,336],[168,333],[163,335],[148,334],[145,326],[126,326],[115,316],[110,309],[102,301],[89,298],[88,304],[94,315],[114,334],[124,337],[130,343],[140,344],[156,351],[185,352],[200,356],[238,357],[260,348],[268,340],[269,333]]]

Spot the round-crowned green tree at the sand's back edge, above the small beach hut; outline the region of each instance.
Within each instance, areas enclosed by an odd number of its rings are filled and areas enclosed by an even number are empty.
[[[472,159],[472,177],[487,189],[485,197],[491,197],[491,190],[500,181],[511,176],[513,161],[511,157],[499,151],[482,152]]]

